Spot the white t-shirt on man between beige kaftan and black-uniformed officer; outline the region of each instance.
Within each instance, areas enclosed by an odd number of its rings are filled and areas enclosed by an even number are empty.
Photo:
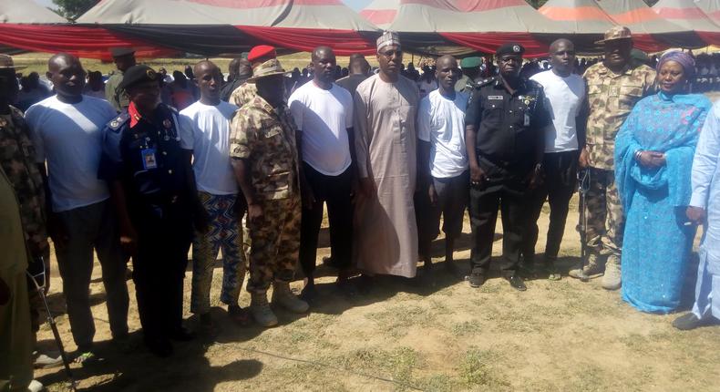
[[[455,177],[468,170],[465,150],[465,109],[468,95],[456,93],[455,100],[433,90],[417,109],[417,138],[430,143],[430,174],[438,179]]]

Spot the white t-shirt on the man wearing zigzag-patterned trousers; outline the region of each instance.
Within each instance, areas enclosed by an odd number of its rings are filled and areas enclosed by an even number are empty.
[[[192,129],[180,134],[182,148],[193,150],[192,168],[198,191],[214,195],[238,192],[230,163],[230,120],[238,107],[221,101],[218,106],[197,101],[180,111],[180,118]]]

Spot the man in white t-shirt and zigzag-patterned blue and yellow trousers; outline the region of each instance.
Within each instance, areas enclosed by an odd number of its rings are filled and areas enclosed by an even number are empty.
[[[220,300],[228,305],[228,315],[246,325],[248,315],[238,304],[245,278],[242,253],[242,214],[246,207],[238,194],[238,183],[230,163],[230,120],[238,109],[221,100],[222,73],[211,61],[201,61],[193,69],[201,98],[180,111],[180,119],[192,129],[183,141],[192,149],[198,194],[208,213],[211,229],[195,232],[192,242],[192,294],[190,312],[200,315],[204,332],[214,328],[210,315],[210,290],[215,260],[222,249],[222,291]]]

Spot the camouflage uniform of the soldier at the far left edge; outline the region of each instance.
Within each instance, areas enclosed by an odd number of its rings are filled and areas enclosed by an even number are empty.
[[[30,140],[23,112],[10,107],[9,115],[0,115],[0,166],[15,189],[20,202],[25,241],[30,256],[42,256],[46,271],[50,271],[50,245],[47,242],[45,188],[35,162],[35,148]],[[48,282],[49,283],[49,282]],[[30,323],[32,330],[40,328],[40,309],[43,307],[36,290],[30,290]]]

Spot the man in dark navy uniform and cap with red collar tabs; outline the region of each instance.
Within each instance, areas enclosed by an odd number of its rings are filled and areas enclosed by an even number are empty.
[[[133,257],[140,323],[145,343],[158,356],[170,356],[170,339],[189,340],[182,328],[182,280],[193,234],[193,220],[206,227],[197,209],[190,150],[180,134],[174,108],[159,103],[159,74],[130,67],[119,88],[129,108],[103,129],[99,177],[108,181],[118,211],[120,242]]]

